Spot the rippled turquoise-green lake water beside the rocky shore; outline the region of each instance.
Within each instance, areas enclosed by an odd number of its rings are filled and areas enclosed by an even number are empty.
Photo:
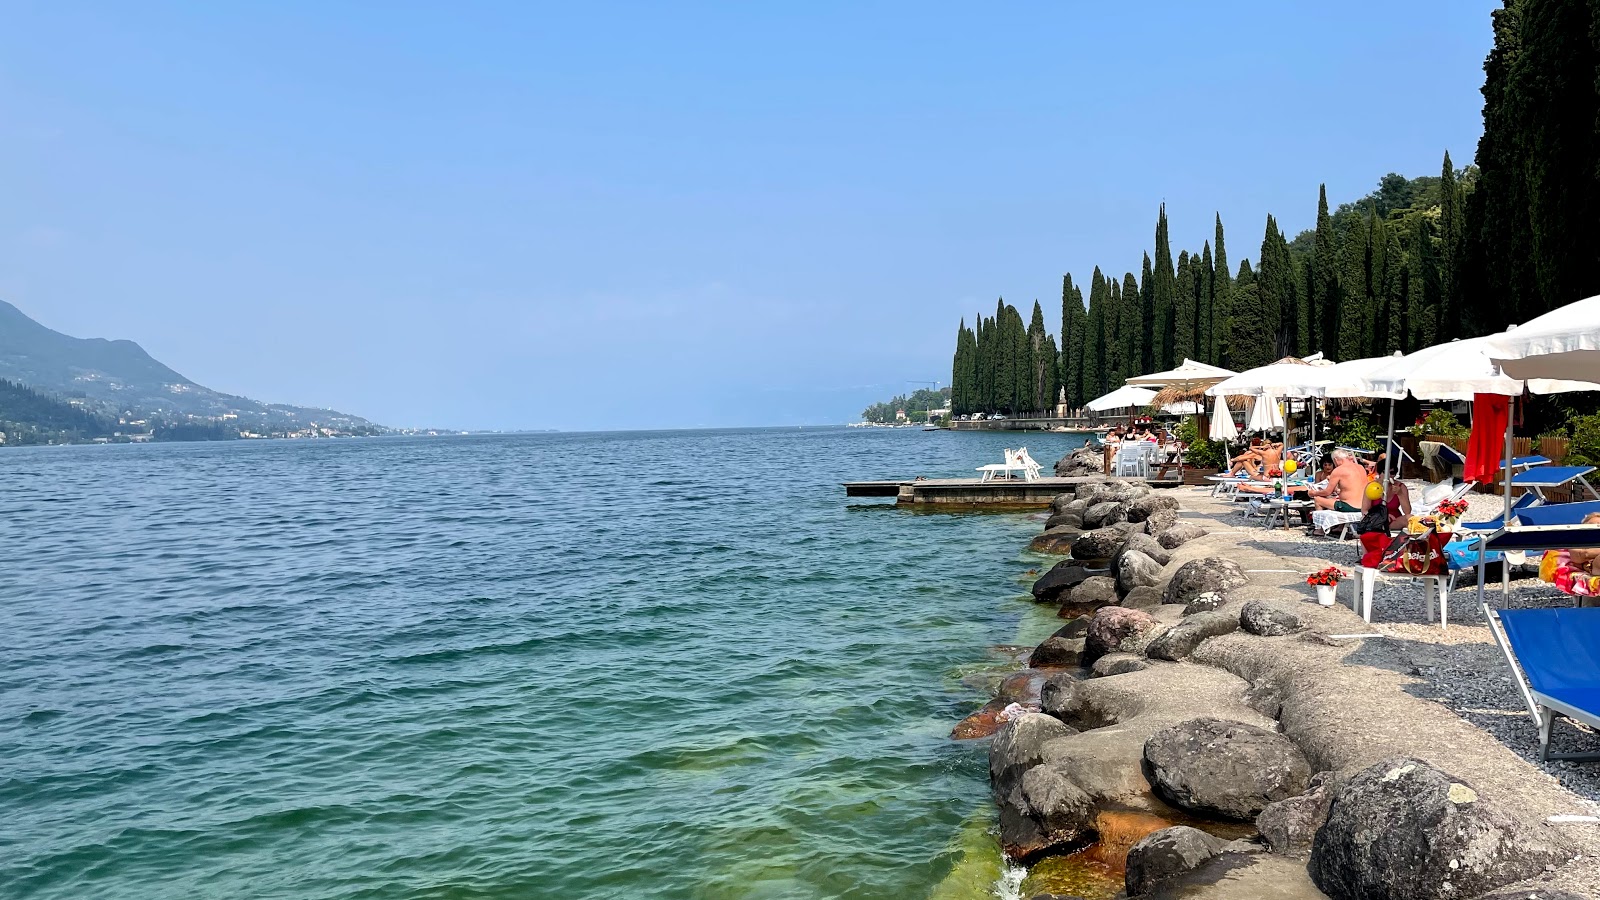
[[[0,452],[0,897],[926,897],[1038,524],[838,482],[1018,442]]]

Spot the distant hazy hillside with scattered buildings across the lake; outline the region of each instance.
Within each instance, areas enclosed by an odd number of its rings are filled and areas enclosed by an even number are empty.
[[[133,341],[74,338],[34,322],[0,301],[0,378],[88,400],[98,413],[139,418],[221,420],[242,428],[285,431],[310,423],[371,432],[379,426],[338,410],[262,404],[195,384]]]

